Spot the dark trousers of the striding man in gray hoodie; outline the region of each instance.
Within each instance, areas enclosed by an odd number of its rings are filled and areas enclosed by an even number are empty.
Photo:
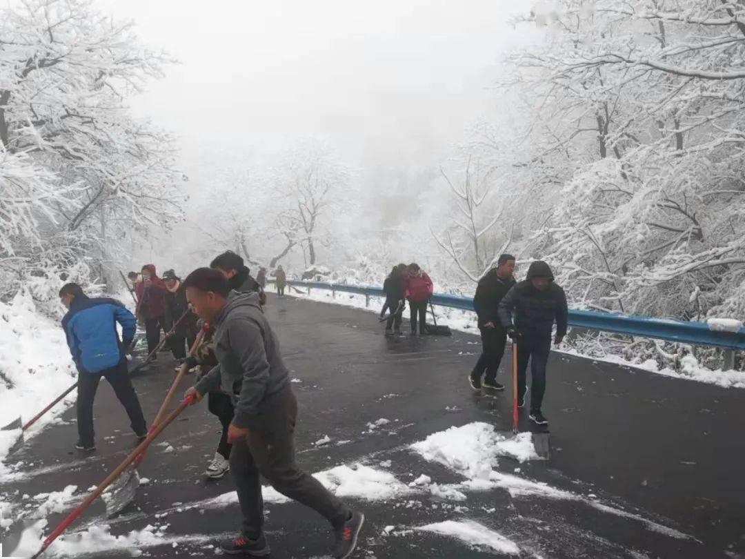
[[[349,508],[295,464],[297,400],[289,387],[264,400],[247,438],[233,444],[230,472],[241,504],[245,537],[255,539],[264,525],[259,474],[272,487],[325,517],[335,528],[349,518]]]

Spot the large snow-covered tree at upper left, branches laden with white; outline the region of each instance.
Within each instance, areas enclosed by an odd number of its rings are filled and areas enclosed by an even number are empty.
[[[167,62],[89,1],[0,8],[0,260],[15,274],[62,281],[180,215],[173,142],[127,108]]]

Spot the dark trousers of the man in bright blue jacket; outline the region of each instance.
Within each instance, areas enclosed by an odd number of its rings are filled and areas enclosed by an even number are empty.
[[[77,374],[77,434],[80,435],[80,442],[86,446],[92,446],[95,442],[95,433],[93,432],[93,399],[98,389],[98,382],[104,376],[114,394],[124,406],[127,415],[130,417],[130,426],[136,435],[145,435],[148,427],[145,425],[145,417],[142,415],[142,408],[139,405],[137,393],[127,373],[127,360],[122,359],[118,365],[109,369],[98,371],[98,373],[88,373],[80,371]]]

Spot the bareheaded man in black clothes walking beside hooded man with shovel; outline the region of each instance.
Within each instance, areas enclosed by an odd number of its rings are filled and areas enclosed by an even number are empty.
[[[504,355],[504,344],[507,342],[507,331],[499,322],[499,302],[515,285],[515,257],[502,254],[497,260],[497,267],[492,268],[478,282],[473,307],[478,315],[478,329],[481,331],[481,356],[469,376],[471,388],[481,387],[491,390],[504,390],[504,385],[497,382],[497,370]],[[481,376],[486,376],[481,382]]]

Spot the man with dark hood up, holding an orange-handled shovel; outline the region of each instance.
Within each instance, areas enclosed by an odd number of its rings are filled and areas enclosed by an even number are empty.
[[[551,352],[551,329],[555,320],[554,344],[561,344],[566,335],[567,316],[564,290],[554,283],[551,268],[541,260],[530,265],[526,279],[511,288],[499,303],[502,326],[518,344],[518,405],[524,405],[525,372],[530,360],[530,419],[539,425],[548,423],[541,413],[541,404],[546,389],[546,363]]]

